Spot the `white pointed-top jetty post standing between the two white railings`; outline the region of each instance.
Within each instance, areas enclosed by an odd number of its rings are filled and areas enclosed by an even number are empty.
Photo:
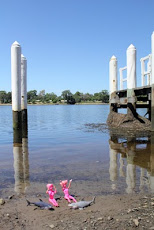
[[[127,49],[127,115],[133,118],[136,114],[136,48],[132,44]]]

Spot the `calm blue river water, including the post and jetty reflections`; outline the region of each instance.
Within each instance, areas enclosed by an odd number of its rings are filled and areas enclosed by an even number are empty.
[[[112,136],[104,125],[108,113],[108,105],[29,106],[28,139],[17,146],[11,106],[0,106],[0,195],[45,194],[47,183],[61,194],[63,179],[73,179],[77,196],[153,192],[149,138]]]

